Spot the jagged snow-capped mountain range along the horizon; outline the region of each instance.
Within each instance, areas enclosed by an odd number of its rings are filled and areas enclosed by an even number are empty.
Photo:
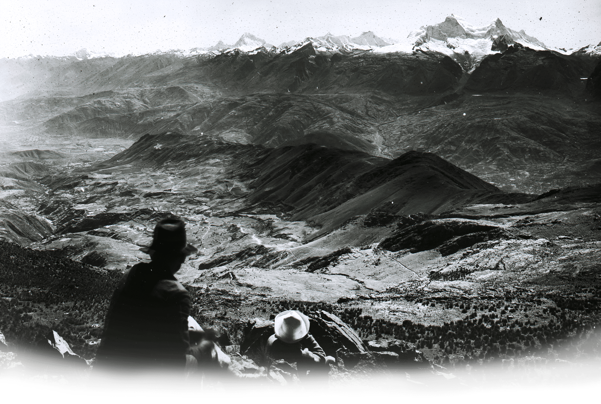
[[[469,66],[474,68],[481,59],[487,55],[502,52],[512,44],[520,44],[535,50],[553,50],[554,52],[569,55],[591,57],[596,59],[601,55],[601,44],[597,46],[589,45],[577,50],[565,50],[555,47],[547,47],[537,38],[531,37],[522,31],[514,31],[503,25],[501,20],[488,26],[474,27],[465,22],[460,17],[448,16],[444,22],[435,25],[422,26],[417,31],[412,31],[402,40],[392,40],[380,38],[373,32],[363,32],[358,37],[348,37],[347,35],[334,36],[328,34],[322,37],[308,37],[303,40],[293,40],[281,43],[278,47],[267,44],[263,39],[245,32],[239,40],[233,45],[218,41],[211,47],[195,47],[189,50],[171,49],[168,51],[156,50],[156,52],[147,55],[163,55],[163,58],[186,59],[192,56],[200,55],[201,58],[213,58],[221,53],[232,52],[237,49],[240,52],[256,52],[261,47],[269,49],[269,52],[291,53],[300,49],[307,43],[311,43],[316,55],[332,56],[335,53],[346,55],[349,52],[368,51],[372,53],[404,53],[411,54],[415,50],[440,52],[455,59],[462,67]],[[135,55],[123,56],[129,58]],[[142,55],[139,55],[142,56]],[[92,52],[87,49],[81,49],[73,55],[68,56],[40,56],[27,55],[16,59],[0,59],[0,65],[4,71],[1,77],[2,90],[0,90],[0,100],[7,100],[17,97],[21,94],[31,92],[32,88],[47,88],[50,83],[56,85],[63,80],[63,69],[76,69],[76,65],[70,66],[72,62],[94,59],[91,64],[97,68],[114,63],[117,59],[112,53]],[[85,64],[80,69],[84,76],[90,73],[90,64]],[[76,70],[75,70],[76,71]],[[46,83],[40,82],[40,77],[44,77]],[[81,75],[76,75],[81,77]],[[27,78],[26,78],[27,77]],[[57,81],[59,80],[59,81]],[[50,85],[51,86],[51,85]]]

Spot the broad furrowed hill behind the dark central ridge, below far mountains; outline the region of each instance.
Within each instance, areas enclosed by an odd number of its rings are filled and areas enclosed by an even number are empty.
[[[209,134],[268,147],[313,142],[377,154],[371,122],[307,95],[251,94],[201,101],[157,125],[157,131]],[[312,136],[326,131],[328,136]],[[308,138],[307,138],[308,136]]]

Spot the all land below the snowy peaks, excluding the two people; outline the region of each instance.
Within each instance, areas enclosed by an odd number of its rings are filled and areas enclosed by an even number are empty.
[[[0,103],[6,377],[43,383],[28,352],[50,330],[92,359],[116,280],[180,217],[199,252],[176,276],[248,372],[295,308],[334,340],[332,388],[599,381],[595,59],[307,44],[55,63]]]

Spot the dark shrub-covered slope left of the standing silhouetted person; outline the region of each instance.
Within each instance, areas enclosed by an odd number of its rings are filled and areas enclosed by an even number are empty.
[[[0,331],[14,352],[55,330],[76,354],[96,353],[102,321],[118,271],[99,270],[65,258],[0,241]]]

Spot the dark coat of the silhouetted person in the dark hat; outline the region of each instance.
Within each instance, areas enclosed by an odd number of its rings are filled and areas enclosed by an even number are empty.
[[[134,265],[112,295],[94,370],[122,381],[123,375],[183,378],[190,305],[188,291],[166,268]]]

